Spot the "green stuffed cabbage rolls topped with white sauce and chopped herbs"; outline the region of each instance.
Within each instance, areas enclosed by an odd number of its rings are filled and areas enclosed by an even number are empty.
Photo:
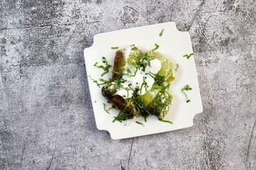
[[[102,87],[103,96],[120,111],[114,121],[140,115],[164,118],[171,106],[173,71],[174,64],[155,49],[145,54],[134,45],[117,50],[112,79]]]

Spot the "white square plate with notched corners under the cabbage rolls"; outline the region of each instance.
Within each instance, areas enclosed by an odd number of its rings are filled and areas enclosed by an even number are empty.
[[[162,29],[164,29],[164,33],[159,36]],[[102,96],[101,89],[88,77],[99,80],[102,78],[103,70],[93,65],[95,62],[101,64],[102,57],[106,57],[107,62],[113,65],[114,55],[117,50],[112,50],[111,47],[122,49],[135,44],[137,47],[142,48],[142,52],[147,52],[154,49],[155,43],[159,45],[159,49],[156,51],[169,58],[175,67],[176,64],[179,65],[178,71],[175,71],[176,79],[171,81],[169,90],[174,99],[169,113],[164,117],[164,120],[171,120],[174,124],[163,123],[151,115],[149,115],[146,122],[144,122],[144,118],[139,117],[127,120],[127,124],[125,124],[125,121],[123,123],[118,121],[112,123],[114,116],[117,116],[119,112],[112,109],[108,114],[104,110],[103,103],[107,104],[107,108],[110,108],[111,105]],[[189,55],[192,52],[190,35],[188,32],[178,31],[174,22],[95,35],[93,45],[85,48],[84,55],[97,128],[99,130],[107,130],[110,132],[112,139],[117,140],[191,127],[193,125],[193,117],[203,111],[194,57],[193,55],[189,59],[183,57],[183,55]],[[112,72],[106,74],[103,79],[109,79],[110,77],[112,77]],[[186,96],[181,91],[186,84],[192,88],[191,91],[186,91],[188,98],[191,100],[189,103],[186,103]],[[143,123],[144,126],[138,125],[135,121]]]

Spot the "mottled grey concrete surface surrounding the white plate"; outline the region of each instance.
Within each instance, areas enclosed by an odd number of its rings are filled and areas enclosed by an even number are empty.
[[[0,1],[0,169],[256,169],[256,2]],[[82,50],[93,35],[174,21],[191,34],[192,128],[111,140]]]

